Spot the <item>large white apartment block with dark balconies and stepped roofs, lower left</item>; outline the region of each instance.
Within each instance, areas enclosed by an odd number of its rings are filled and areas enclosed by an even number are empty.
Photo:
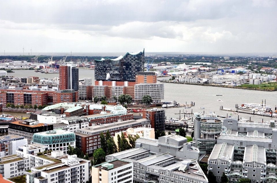
[[[26,175],[26,182],[46,183],[65,182],[83,183],[90,177],[90,161],[78,158],[77,155],[63,154],[63,151],[52,151],[44,155],[32,155],[35,167]]]

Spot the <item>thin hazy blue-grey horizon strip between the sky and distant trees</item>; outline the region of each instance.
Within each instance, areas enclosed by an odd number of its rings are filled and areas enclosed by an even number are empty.
[[[119,57],[120,55],[125,55],[127,52],[77,52],[77,53],[72,53],[72,56],[93,56],[93,57]],[[36,53],[33,52],[32,55],[28,55],[23,53],[18,53],[18,52],[0,52],[0,56],[35,56],[35,55],[46,55],[46,56],[51,56],[52,53],[50,52],[44,52],[44,53]],[[68,57],[70,57],[70,52],[54,52],[53,56],[65,56],[67,54]],[[193,55],[193,56],[219,56],[219,57],[224,57],[224,56],[231,56],[231,57],[269,57],[272,55],[277,55],[277,52],[268,52],[268,53],[214,53],[214,52],[145,52],[145,55]]]

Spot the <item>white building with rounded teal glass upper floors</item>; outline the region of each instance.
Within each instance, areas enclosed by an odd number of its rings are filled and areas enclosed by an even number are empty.
[[[46,132],[39,132],[33,135],[31,143],[48,146],[49,150],[63,151],[64,154],[68,152],[68,145],[75,148],[75,134],[65,130],[50,130]]]

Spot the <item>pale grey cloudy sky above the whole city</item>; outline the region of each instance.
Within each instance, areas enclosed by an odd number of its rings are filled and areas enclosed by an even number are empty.
[[[0,0],[0,55],[277,52],[277,1]]]

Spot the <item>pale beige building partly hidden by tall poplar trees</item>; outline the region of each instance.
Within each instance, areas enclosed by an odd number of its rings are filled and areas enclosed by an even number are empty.
[[[139,127],[139,128],[128,128],[126,131],[122,131],[125,138],[129,142],[128,136],[131,135],[132,137],[135,137],[136,134],[139,135],[139,137],[143,138],[155,138],[155,130],[154,128],[145,128],[145,127]],[[113,136],[113,140],[115,141],[115,144],[117,145],[117,134],[121,137],[121,132],[115,133]],[[130,144],[130,142],[129,142]],[[117,145],[118,146],[118,145]]]

